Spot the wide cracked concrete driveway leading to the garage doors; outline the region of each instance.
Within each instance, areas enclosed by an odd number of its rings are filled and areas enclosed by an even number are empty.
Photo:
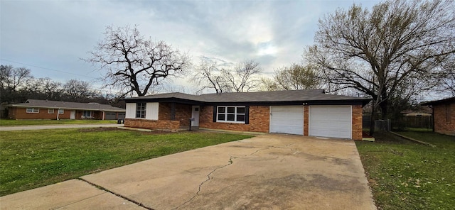
[[[352,140],[267,134],[0,198],[1,209],[376,209]]]

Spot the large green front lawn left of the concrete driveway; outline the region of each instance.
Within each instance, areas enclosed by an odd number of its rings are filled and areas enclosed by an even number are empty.
[[[92,172],[252,136],[114,128],[2,131],[0,196]]]

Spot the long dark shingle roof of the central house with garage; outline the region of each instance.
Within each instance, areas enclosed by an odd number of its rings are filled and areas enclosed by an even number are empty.
[[[279,103],[292,102],[295,104],[311,101],[360,101],[363,105],[368,104],[371,99],[325,94],[323,89],[311,90],[287,90],[274,92],[232,92],[222,94],[201,94],[191,95],[183,93],[168,93],[156,94],[150,96],[139,96],[127,98],[125,100],[141,100],[141,101],[161,101],[163,99],[184,99],[190,101],[201,101],[205,103]]]

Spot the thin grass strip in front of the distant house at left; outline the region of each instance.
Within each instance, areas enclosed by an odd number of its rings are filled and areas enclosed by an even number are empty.
[[[10,120],[1,119],[0,126],[66,125],[66,124],[112,124],[117,121],[101,120]]]

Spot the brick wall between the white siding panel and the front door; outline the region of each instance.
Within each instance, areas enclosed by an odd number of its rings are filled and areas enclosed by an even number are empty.
[[[191,105],[176,104],[176,121],[180,121],[180,126],[190,126],[189,118],[191,118]],[[158,108],[159,120],[171,120],[171,103],[159,103]]]

